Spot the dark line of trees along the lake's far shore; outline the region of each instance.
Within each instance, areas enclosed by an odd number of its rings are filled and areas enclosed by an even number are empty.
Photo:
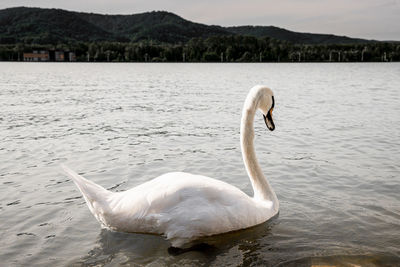
[[[400,61],[399,42],[366,44],[293,44],[252,36],[193,38],[166,44],[143,40],[71,42],[58,44],[0,44],[1,61],[22,61],[34,50],[75,52],[79,62],[380,62]]]

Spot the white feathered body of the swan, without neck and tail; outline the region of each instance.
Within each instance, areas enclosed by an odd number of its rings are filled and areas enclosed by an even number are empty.
[[[113,210],[120,229],[164,234],[174,246],[268,219],[265,203],[222,181],[188,173],[168,173],[126,191]]]

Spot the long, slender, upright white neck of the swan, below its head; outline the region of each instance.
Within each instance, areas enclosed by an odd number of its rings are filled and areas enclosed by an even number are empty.
[[[240,125],[240,143],[244,165],[249,175],[254,190],[254,198],[257,200],[269,200],[278,203],[275,192],[269,185],[261,171],[254,150],[254,116],[257,111],[258,99],[247,99],[245,102],[242,121]]]

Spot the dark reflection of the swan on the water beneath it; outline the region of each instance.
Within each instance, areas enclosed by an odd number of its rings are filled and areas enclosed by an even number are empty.
[[[252,252],[265,244],[277,216],[260,225],[235,232],[205,237],[186,249],[171,247],[159,235],[115,232],[102,229],[96,246],[72,265],[104,266],[112,264],[243,264]],[[260,242],[264,242],[261,244]],[[255,259],[256,257],[254,257]],[[231,261],[231,262],[230,262]]]

